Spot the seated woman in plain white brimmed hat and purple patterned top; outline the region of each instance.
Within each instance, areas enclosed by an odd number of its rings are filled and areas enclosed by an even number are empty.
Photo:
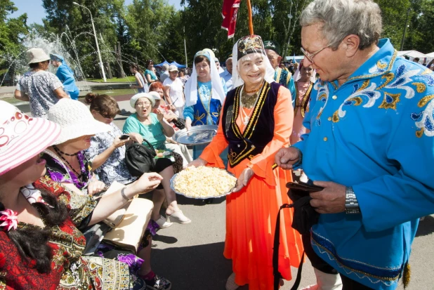
[[[46,160],[46,180],[60,183],[68,190],[76,192],[77,195],[83,195],[87,190],[88,195],[91,196],[104,190],[106,186],[93,174],[92,164],[86,158],[84,150],[91,145],[91,138],[95,134],[110,131],[112,127],[93,119],[86,105],[71,99],[60,100],[53,105],[48,111],[48,120],[60,125],[62,133],[53,145],[44,150],[42,155],[42,158]],[[151,270],[150,241],[152,236],[150,233],[152,232],[154,228],[150,223],[141,242],[142,249],[138,250],[138,257],[133,259],[134,263],[129,265],[130,271],[134,273],[140,268],[138,275],[143,277],[147,285],[170,285],[170,282],[163,277],[155,278]],[[100,255],[119,260],[124,256],[124,252],[104,241],[96,250],[96,253]],[[142,264],[138,264],[138,261]]]

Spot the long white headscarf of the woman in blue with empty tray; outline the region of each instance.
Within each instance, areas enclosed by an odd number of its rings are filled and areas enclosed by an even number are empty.
[[[221,84],[220,74],[218,74],[218,70],[216,67],[216,63],[214,62],[214,58],[211,58],[211,55],[208,51],[198,51],[195,54],[195,58],[198,55],[203,55],[205,58],[209,60],[209,66],[211,67],[211,90],[212,95],[211,98],[215,100],[220,100],[221,105],[223,105],[223,101],[226,98],[225,90],[223,89],[223,84]],[[196,65],[193,61],[193,72],[192,76],[185,83],[184,88],[185,95],[185,106],[190,107],[196,105],[197,103],[197,72]]]

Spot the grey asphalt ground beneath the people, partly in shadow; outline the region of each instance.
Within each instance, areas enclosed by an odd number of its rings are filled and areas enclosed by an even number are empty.
[[[119,128],[122,128],[126,117],[133,110],[127,101],[129,98],[131,95],[117,97],[121,114],[114,122]],[[20,109],[29,112],[28,105],[21,105]],[[148,194],[148,197],[150,195]],[[232,272],[231,261],[223,257],[225,199],[213,199],[212,204],[180,195],[177,199],[180,208],[192,223],[188,225],[174,223],[170,228],[157,232],[152,241],[151,254],[154,272],[169,279],[173,284],[173,290],[224,290],[226,279]],[[407,290],[434,290],[433,232],[434,216],[427,216],[419,224],[412,245],[412,256],[410,256],[412,280]],[[296,272],[297,269],[293,268],[293,281],[285,282],[282,290],[291,289]],[[315,274],[306,259],[300,289],[310,284],[315,284]],[[246,289],[249,287],[239,288],[239,290]],[[401,282],[397,289],[404,289]]]

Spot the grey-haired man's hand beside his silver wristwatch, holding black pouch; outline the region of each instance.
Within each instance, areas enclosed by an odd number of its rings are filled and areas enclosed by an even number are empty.
[[[310,205],[318,213],[341,213],[345,211],[346,186],[327,181],[315,181],[313,184],[324,187],[319,192],[310,192]]]

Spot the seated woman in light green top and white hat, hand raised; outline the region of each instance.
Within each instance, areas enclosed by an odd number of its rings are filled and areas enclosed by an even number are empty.
[[[163,113],[156,111],[157,114],[151,112],[152,107],[155,105],[155,100],[150,93],[138,93],[133,95],[130,100],[130,105],[136,108],[136,113],[128,117],[124,124],[124,133],[138,133],[137,137],[139,143],[147,146],[143,140],[147,140],[156,150],[167,150],[166,136],[171,137],[175,131],[167,121],[164,120]],[[177,154],[178,155],[178,154]],[[176,223],[191,223],[190,218],[184,216],[183,212],[179,209],[178,202],[176,202],[176,194],[170,187],[170,179],[175,173],[174,166],[164,166],[156,164],[156,171],[163,176],[162,186],[166,195],[167,204],[166,215],[170,217],[171,221]],[[182,167],[182,165],[181,165]],[[178,166],[179,169],[179,166]],[[179,169],[180,170],[180,169]]]

